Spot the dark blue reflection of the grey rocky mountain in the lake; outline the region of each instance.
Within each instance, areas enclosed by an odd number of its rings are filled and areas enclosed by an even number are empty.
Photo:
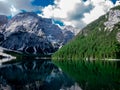
[[[74,84],[51,60],[23,60],[0,66],[0,90],[64,90]]]

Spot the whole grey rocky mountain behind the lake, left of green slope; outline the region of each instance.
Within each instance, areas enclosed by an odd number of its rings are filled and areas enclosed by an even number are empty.
[[[70,38],[52,23],[52,19],[42,18],[33,12],[19,13],[10,19],[3,29],[4,40],[0,46],[31,54],[51,54]],[[72,34],[72,36],[71,36]],[[68,38],[66,38],[68,37]]]

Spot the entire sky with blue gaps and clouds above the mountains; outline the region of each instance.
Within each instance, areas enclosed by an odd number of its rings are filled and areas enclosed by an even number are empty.
[[[39,16],[52,18],[61,26],[83,28],[120,0],[0,0],[0,14],[13,17],[20,12],[36,12]]]

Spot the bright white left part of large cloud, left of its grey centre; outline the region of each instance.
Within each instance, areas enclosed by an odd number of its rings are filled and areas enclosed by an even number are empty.
[[[45,7],[42,11],[42,15],[47,18],[54,18],[63,21],[66,25],[71,25],[76,23],[75,20],[70,20],[72,18],[71,12],[75,11],[75,8],[82,5],[80,0],[55,0],[55,5],[49,5]],[[84,6],[84,5],[82,5]],[[75,14],[77,14],[75,12]],[[68,16],[70,15],[70,16]],[[74,16],[74,15],[73,15]],[[74,24],[73,24],[74,25]]]

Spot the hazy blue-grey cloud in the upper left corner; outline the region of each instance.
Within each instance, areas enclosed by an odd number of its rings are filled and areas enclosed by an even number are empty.
[[[25,11],[37,11],[39,6],[31,4],[33,0],[0,0],[0,14],[12,15]]]

